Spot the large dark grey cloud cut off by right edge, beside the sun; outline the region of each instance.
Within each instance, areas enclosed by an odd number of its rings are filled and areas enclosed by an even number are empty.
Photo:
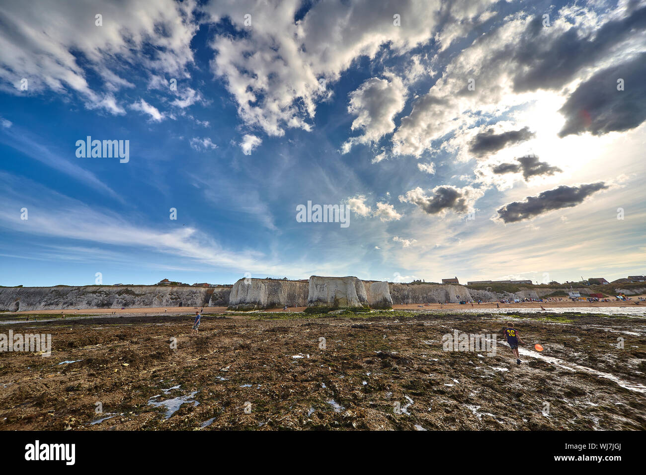
[[[565,125],[559,137],[590,132],[602,135],[634,129],[646,120],[646,53],[601,70],[572,93],[561,107]],[[617,90],[623,79],[624,90]]]

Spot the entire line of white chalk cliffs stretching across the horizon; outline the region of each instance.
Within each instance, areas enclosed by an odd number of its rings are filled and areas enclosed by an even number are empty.
[[[318,277],[309,282],[273,279],[240,279],[231,288],[189,286],[85,286],[0,288],[0,311],[65,310],[76,308],[216,307],[235,310],[287,306],[370,305],[391,308],[393,304],[424,304],[459,301],[495,302],[501,299],[539,299],[569,288],[519,288],[517,292],[468,289],[453,284],[395,284],[362,281],[357,277]],[[589,295],[589,288],[576,288]],[[612,290],[609,289],[612,293]],[[616,289],[621,291],[620,289]],[[646,289],[630,288],[626,295]],[[567,299],[567,296],[556,295]]]

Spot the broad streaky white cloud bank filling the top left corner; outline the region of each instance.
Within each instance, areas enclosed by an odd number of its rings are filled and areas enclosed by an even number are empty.
[[[123,114],[112,95],[132,87],[118,74],[123,68],[137,65],[150,74],[187,76],[186,66],[193,63],[191,39],[199,26],[195,8],[194,0],[68,1],[57,3],[56,8],[3,2],[0,17],[10,22],[0,29],[0,87],[12,94],[73,91],[89,109]],[[79,61],[79,56],[84,60]],[[98,74],[110,92],[90,87],[88,72]],[[20,89],[21,78],[28,79],[28,91]]]

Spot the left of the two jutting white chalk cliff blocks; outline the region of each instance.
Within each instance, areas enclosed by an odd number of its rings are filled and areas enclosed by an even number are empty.
[[[307,305],[307,282],[296,280],[240,279],[233,284],[229,308],[251,310]]]

